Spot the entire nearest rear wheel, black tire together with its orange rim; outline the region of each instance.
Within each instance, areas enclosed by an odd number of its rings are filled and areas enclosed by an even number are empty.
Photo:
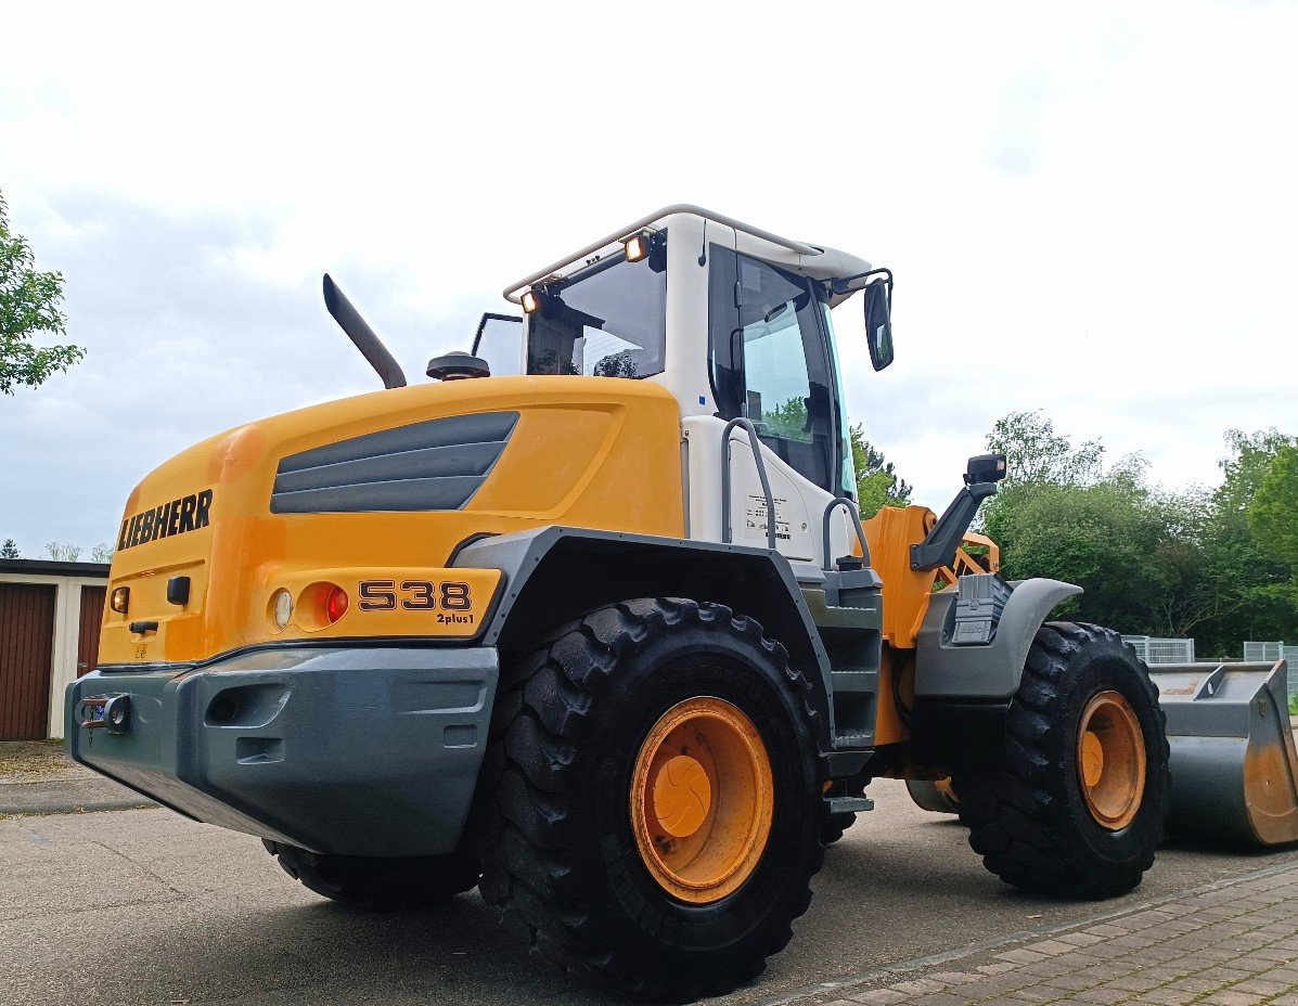
[[[628,601],[558,630],[496,701],[483,897],[533,953],[622,993],[752,980],[824,855],[809,692],[719,605]]]

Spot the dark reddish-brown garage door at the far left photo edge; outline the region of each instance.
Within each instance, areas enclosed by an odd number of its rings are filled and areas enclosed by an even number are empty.
[[[49,718],[55,588],[0,583],[0,740],[40,740]]]

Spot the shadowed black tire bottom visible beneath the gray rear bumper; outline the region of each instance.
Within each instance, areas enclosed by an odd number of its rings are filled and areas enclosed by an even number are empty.
[[[440,905],[478,887],[476,855],[321,855],[296,845],[262,841],[302,887],[357,909],[395,911]]]

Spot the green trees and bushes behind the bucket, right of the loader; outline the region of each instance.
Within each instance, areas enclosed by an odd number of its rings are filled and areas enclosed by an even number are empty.
[[[1151,485],[1138,456],[1106,465],[1041,413],[998,421],[988,448],[1009,457],[983,526],[1009,579],[1085,589],[1063,614],[1127,633],[1192,636],[1205,656],[1245,639],[1298,639],[1298,450],[1275,430],[1227,435],[1214,492]]]

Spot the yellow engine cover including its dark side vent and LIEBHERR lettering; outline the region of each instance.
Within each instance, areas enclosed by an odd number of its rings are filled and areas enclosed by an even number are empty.
[[[205,440],[135,488],[109,585],[127,607],[105,609],[100,662],[467,639],[500,589],[496,570],[447,569],[467,539],[545,524],[680,537],[684,523],[678,408],[657,384],[485,378],[327,402]],[[167,600],[178,576],[183,604]],[[347,593],[332,622],[331,585]]]

